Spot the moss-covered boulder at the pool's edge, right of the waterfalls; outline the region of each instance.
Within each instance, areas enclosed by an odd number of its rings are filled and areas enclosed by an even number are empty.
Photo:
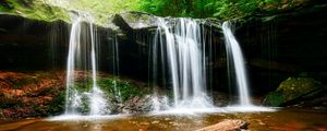
[[[310,93],[322,87],[323,84],[312,78],[289,78],[281,82],[275,92],[266,96],[263,105],[281,106],[298,97],[314,95]]]

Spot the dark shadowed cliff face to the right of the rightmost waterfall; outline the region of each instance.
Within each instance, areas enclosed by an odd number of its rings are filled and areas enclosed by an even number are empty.
[[[326,11],[327,4],[322,3],[239,23],[237,37],[255,86],[270,91],[299,74],[327,80]]]

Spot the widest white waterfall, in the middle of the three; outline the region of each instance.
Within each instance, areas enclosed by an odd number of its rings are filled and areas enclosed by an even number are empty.
[[[162,69],[168,64],[172,82],[173,108],[213,107],[205,92],[206,70],[203,63],[205,49],[202,36],[201,24],[196,20],[175,19],[175,23],[171,24],[158,17],[158,28],[153,44],[153,66],[157,70],[156,59],[157,53],[160,53]]]

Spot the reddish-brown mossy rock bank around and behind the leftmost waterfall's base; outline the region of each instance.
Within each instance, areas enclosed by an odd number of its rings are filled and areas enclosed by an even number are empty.
[[[76,91],[89,92],[92,87],[89,81],[90,72],[75,71]],[[152,110],[153,97],[144,83],[117,79],[108,73],[99,73],[97,82],[109,100],[111,114],[141,114]],[[120,92],[120,96],[113,88]],[[88,103],[87,100],[84,103],[80,112],[88,115]],[[0,71],[0,119],[61,115],[64,111],[64,71],[27,73]]]

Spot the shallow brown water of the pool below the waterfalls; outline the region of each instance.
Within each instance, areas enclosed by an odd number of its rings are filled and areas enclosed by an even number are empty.
[[[327,131],[327,110],[282,109],[276,112],[206,114],[198,116],[129,116],[107,119],[0,121],[0,131],[192,131],[223,119],[250,122],[251,131]]]

